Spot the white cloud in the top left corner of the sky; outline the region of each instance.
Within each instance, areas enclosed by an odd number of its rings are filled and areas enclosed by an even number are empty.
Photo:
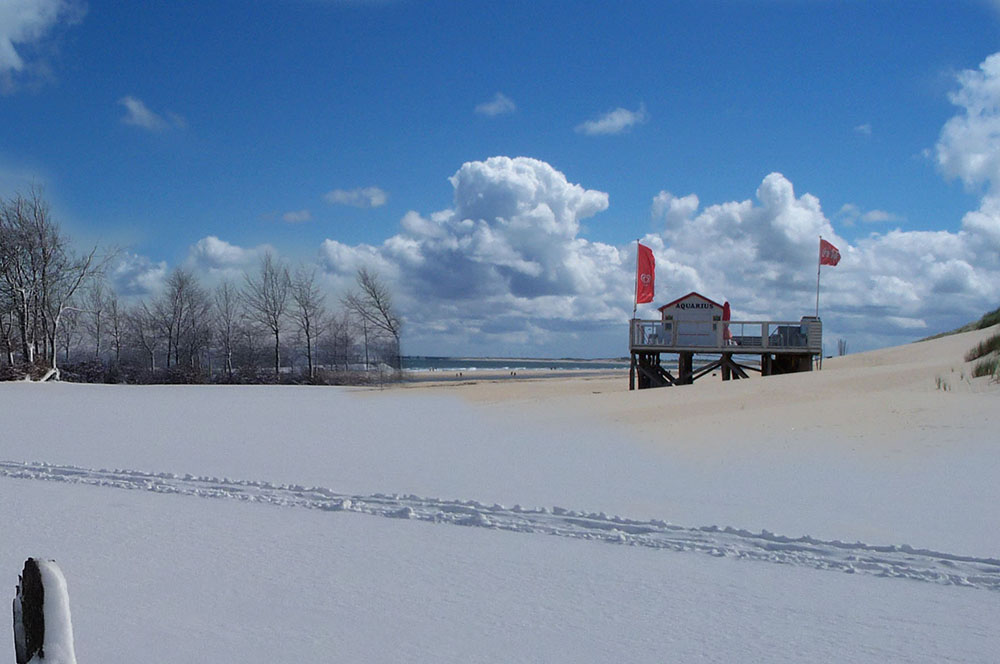
[[[11,90],[19,77],[46,69],[38,47],[59,26],[79,23],[86,5],[75,0],[0,2],[0,87]]]

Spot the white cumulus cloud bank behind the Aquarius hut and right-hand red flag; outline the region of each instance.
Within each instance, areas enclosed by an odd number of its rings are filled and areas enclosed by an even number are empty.
[[[796,196],[791,181],[768,175],[756,200],[691,210],[691,197],[661,192],[654,209],[667,210],[666,229],[647,236],[658,261],[657,282],[671,292],[698,290],[732,302],[734,318],[797,320],[815,297],[818,236],[843,256],[824,270],[821,315],[832,333],[852,336],[855,348],[898,343],[914,329],[944,330],[967,322],[1000,299],[996,249],[957,233],[872,233],[851,245],[837,235],[810,194]],[[664,201],[688,201],[666,206]],[[670,216],[673,213],[673,216]],[[896,218],[854,205],[839,215],[869,222]]]

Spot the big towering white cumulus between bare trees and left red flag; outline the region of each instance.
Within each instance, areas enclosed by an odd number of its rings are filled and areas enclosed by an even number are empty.
[[[525,157],[468,162],[450,182],[451,208],[408,212],[381,245],[325,241],[331,281],[347,287],[362,266],[390,280],[411,348],[425,352],[530,353],[560,339],[565,350],[595,321],[624,319],[624,255],[580,237],[581,220],[607,209],[607,194]]]

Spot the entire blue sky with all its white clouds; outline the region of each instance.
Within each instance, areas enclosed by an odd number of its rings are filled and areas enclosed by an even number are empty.
[[[359,267],[414,355],[627,354],[657,295],[827,352],[1000,304],[1000,2],[0,0],[0,196],[115,289]]]

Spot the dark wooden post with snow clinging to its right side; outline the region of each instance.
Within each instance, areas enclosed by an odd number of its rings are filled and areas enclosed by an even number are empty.
[[[28,558],[14,595],[17,664],[76,664],[66,577],[54,560]]]

